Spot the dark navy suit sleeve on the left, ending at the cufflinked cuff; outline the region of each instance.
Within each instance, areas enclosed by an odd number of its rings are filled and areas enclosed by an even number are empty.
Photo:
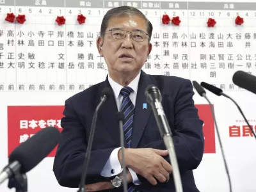
[[[74,111],[70,100],[66,100],[61,119],[61,138],[54,159],[53,172],[61,186],[78,188],[87,148],[85,127]],[[100,173],[115,148],[92,150],[86,173],[86,184],[106,180]]]

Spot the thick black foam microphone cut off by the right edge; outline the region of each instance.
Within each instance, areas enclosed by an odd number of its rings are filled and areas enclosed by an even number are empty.
[[[241,70],[233,75],[233,83],[256,94],[256,77]]]

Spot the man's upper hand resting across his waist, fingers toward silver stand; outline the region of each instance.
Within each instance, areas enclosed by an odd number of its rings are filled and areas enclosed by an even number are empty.
[[[134,172],[142,175],[152,185],[166,182],[170,179],[172,166],[162,156],[167,156],[168,150],[154,148],[125,148],[125,164]],[[122,162],[121,152],[118,159]],[[157,179],[157,180],[156,180]]]

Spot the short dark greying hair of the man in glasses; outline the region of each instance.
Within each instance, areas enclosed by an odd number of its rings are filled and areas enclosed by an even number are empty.
[[[148,42],[149,42],[151,39],[153,26],[151,22],[147,19],[147,17],[140,10],[131,6],[119,6],[109,10],[102,19],[101,27],[100,27],[100,36],[104,35],[106,29],[108,28],[109,19],[111,19],[112,17],[125,17],[125,16],[133,16],[133,15],[141,17],[146,21]]]

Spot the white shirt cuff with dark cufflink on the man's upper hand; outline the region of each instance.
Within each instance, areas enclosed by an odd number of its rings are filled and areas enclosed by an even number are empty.
[[[118,160],[118,151],[121,147],[115,148],[106,162],[103,170],[101,171],[100,175],[102,177],[112,177],[115,175],[120,174],[123,171],[123,168]]]

